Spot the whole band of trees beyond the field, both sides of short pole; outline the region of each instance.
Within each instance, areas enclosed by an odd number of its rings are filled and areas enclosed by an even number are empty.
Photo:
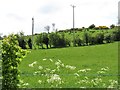
[[[52,33],[40,33],[34,35],[34,43],[32,43],[31,36],[25,36],[23,32],[15,34],[19,42],[19,46],[22,49],[36,48],[58,48],[58,47],[70,47],[70,46],[88,46],[96,44],[111,43],[114,41],[120,41],[120,27],[111,25],[111,29],[114,30],[94,30],[95,25],[89,26],[89,29],[75,31],[73,37],[72,32],[52,32]],[[116,29],[115,29],[116,28]],[[82,33],[82,35],[80,34]],[[67,36],[66,34],[69,34]]]

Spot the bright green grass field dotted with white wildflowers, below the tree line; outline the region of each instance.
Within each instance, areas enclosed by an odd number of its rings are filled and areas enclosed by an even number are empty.
[[[33,63],[34,66],[30,66]],[[42,68],[38,69],[39,66]],[[118,73],[118,42],[31,50],[19,69],[26,83],[23,87],[112,87]],[[58,79],[50,81],[55,75]]]

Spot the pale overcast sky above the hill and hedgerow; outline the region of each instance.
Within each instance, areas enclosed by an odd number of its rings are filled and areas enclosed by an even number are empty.
[[[117,24],[119,0],[0,0],[0,33],[4,35],[23,31],[32,33],[32,17],[35,31],[45,31],[52,23],[58,30],[72,28],[72,7],[75,5],[75,27],[91,24]]]

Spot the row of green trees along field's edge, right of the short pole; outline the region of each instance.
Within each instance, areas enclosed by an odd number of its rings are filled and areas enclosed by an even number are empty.
[[[72,36],[73,33],[70,33]],[[86,30],[83,32],[82,37],[79,34],[75,34],[74,38],[70,39],[65,35],[64,32],[59,33],[41,33],[36,38],[36,45],[43,47],[43,44],[48,45],[50,48],[54,47],[69,47],[69,46],[88,46],[96,44],[111,43],[114,41],[120,41],[120,30],[116,29],[114,31],[107,32],[91,32]]]

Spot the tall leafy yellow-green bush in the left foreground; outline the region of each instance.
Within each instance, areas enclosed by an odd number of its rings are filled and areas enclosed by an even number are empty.
[[[2,41],[2,88],[8,90],[17,88],[20,72],[18,66],[27,51],[19,47],[17,37],[13,34]]]

